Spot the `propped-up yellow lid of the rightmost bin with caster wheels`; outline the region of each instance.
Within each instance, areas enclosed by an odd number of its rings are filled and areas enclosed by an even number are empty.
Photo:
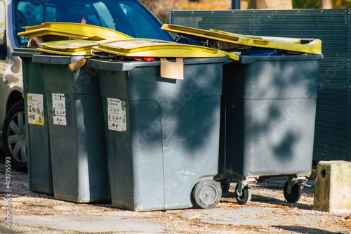
[[[240,44],[244,46],[256,46],[262,48],[277,48],[286,51],[296,51],[300,53],[322,53],[322,41],[319,39],[259,37],[234,34],[219,30],[199,30],[192,27],[168,24],[163,25],[161,29],[166,30],[168,32],[189,34],[197,37],[224,41],[230,44]]]

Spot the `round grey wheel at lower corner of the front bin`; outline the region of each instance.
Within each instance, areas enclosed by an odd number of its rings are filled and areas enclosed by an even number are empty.
[[[221,197],[220,185],[211,179],[199,181],[192,190],[192,202],[195,208],[211,209],[216,207]]]

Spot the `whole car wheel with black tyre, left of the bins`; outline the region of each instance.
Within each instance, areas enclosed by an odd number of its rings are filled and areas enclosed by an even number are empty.
[[[11,167],[27,172],[27,146],[25,143],[25,104],[15,103],[4,119],[2,141],[6,157],[11,158]]]

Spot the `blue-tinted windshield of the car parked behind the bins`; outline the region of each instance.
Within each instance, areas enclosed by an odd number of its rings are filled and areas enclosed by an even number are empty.
[[[161,22],[135,0],[15,0],[15,33],[42,22],[78,22],[107,27],[131,37],[172,41]],[[25,41],[18,38],[18,43]]]

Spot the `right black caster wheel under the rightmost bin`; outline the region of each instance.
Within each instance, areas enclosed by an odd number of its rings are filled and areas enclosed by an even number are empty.
[[[300,200],[302,188],[307,182],[306,176],[290,177],[284,184],[284,197],[286,201],[295,203]]]

